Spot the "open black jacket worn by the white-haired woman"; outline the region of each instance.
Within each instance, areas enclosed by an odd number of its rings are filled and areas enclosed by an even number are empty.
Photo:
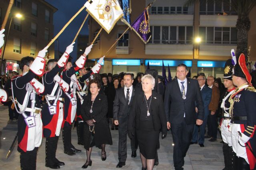
[[[164,113],[164,102],[162,95],[158,94],[154,90],[152,91],[152,102],[151,102],[152,121],[155,131],[160,131],[166,135],[167,133],[167,121]],[[140,106],[145,105],[144,92],[136,93],[134,100],[132,101],[132,107],[130,109],[129,119],[128,119],[128,131],[140,129]]]

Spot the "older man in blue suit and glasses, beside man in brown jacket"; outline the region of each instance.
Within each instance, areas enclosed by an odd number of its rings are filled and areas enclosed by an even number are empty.
[[[200,147],[204,147],[204,133],[205,133],[207,117],[209,114],[208,105],[210,104],[210,101],[212,98],[212,89],[205,85],[205,82],[206,82],[205,76],[198,76],[197,80],[201,89],[202,99],[204,102],[204,121],[203,121],[203,124],[200,126],[195,125],[190,144],[197,143],[198,141],[198,144],[200,145]],[[198,112],[197,107],[196,107],[196,112]],[[198,128],[200,129],[199,137],[198,137]]]

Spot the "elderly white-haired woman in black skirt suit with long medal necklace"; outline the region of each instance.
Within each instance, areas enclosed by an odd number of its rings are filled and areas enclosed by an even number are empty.
[[[134,128],[140,147],[142,170],[152,170],[155,154],[162,131],[162,139],[167,135],[166,116],[162,95],[155,92],[152,75],[142,76],[142,92],[135,94],[128,119],[128,135],[134,136]]]

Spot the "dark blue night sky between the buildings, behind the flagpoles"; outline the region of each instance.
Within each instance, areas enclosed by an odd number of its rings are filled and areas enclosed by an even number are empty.
[[[58,9],[57,12],[54,13],[53,16],[53,24],[54,24],[54,36],[62,29],[62,27],[82,8],[87,0],[45,0],[52,6]],[[66,47],[70,45],[80,28],[87,12],[82,11],[71,23],[68,27],[63,31],[63,33],[58,37],[59,41],[59,49],[61,52],[66,50]],[[82,28],[80,34],[88,35],[88,20],[84,23],[84,27]],[[76,59],[76,51],[77,51],[77,40],[74,45],[74,51],[70,53],[70,56],[73,57],[73,61]],[[57,41],[55,41],[54,45],[55,55],[58,55],[58,47]],[[85,50],[85,49],[83,49]]]

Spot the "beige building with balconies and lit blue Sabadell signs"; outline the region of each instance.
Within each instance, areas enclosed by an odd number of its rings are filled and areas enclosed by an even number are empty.
[[[152,1],[132,0],[131,21]],[[150,41],[145,45],[134,31],[127,31],[105,57],[104,67],[100,72],[118,74],[124,71],[136,74],[144,72],[149,63],[150,68],[157,69],[161,75],[164,60],[164,66],[171,66],[172,76],[176,74],[177,64],[186,63],[192,76],[204,72],[206,76],[222,77],[224,63],[230,59],[230,50],[236,49],[238,16],[230,6],[223,3],[198,3],[186,7],[185,1],[156,1],[149,10],[152,33]],[[256,28],[253,20],[255,13],[256,10],[252,10],[250,14],[251,28],[248,36],[252,61],[256,60],[256,43],[253,41],[256,38],[256,32],[253,31]],[[100,25],[90,18],[90,42],[99,29]],[[126,29],[127,25],[118,21],[109,34],[102,31],[89,59],[103,56]],[[195,43],[196,37],[201,38],[200,43]]]

